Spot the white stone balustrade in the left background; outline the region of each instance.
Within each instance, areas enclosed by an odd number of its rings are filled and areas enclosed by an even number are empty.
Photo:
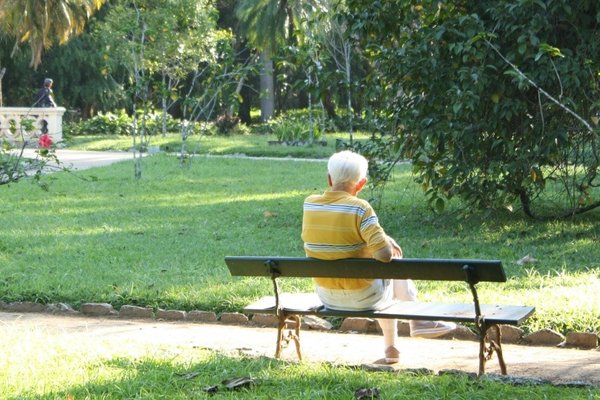
[[[62,141],[64,107],[0,107],[0,142],[37,146],[37,138],[47,129],[53,143]]]

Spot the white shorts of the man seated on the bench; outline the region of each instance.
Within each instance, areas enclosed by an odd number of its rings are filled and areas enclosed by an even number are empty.
[[[391,279],[375,279],[364,289],[327,289],[315,286],[315,292],[325,307],[342,311],[379,310],[387,307],[394,297]]]

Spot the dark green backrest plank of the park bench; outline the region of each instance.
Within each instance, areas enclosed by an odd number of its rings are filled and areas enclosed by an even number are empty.
[[[305,257],[227,256],[225,263],[232,276],[506,282],[502,263],[496,260],[404,258],[383,263],[363,258],[325,261]]]

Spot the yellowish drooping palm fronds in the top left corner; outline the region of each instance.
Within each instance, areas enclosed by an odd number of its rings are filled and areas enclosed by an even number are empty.
[[[30,66],[37,68],[42,52],[53,44],[64,44],[81,33],[90,16],[106,0],[3,0],[0,2],[2,29],[16,38],[15,49],[31,47]]]

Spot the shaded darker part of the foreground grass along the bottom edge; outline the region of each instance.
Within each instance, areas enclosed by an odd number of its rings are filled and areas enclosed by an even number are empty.
[[[92,380],[44,394],[18,394],[7,400],[33,399],[353,399],[376,388],[380,398],[596,398],[600,390],[550,385],[508,385],[467,375],[433,376],[418,372],[369,372],[330,364],[290,363],[271,358],[236,358],[207,352],[201,361],[115,358],[89,365]],[[244,378],[238,388],[225,381]],[[376,397],[374,397],[376,398]]]

